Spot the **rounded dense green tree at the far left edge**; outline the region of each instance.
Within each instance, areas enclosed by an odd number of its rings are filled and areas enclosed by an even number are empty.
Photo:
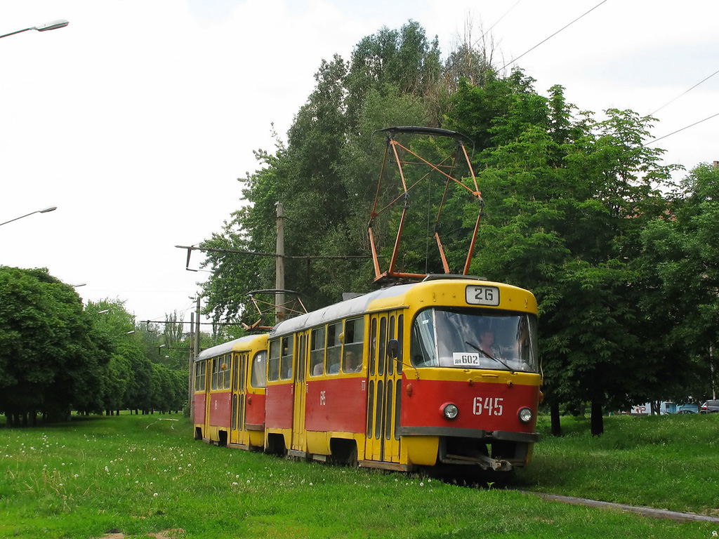
[[[45,269],[0,267],[0,410],[9,423],[102,410],[109,359],[73,287]]]

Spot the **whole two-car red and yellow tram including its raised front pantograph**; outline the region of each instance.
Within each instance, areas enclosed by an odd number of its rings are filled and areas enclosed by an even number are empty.
[[[280,321],[263,336],[204,351],[196,365],[196,438],[401,471],[472,466],[508,472],[526,466],[539,441],[542,398],[537,303],[528,290],[468,275],[484,208],[464,147],[471,139],[429,127],[380,132],[385,157],[368,239],[375,283],[390,286]],[[399,142],[416,135],[449,137],[456,147],[434,164]],[[401,189],[385,206],[380,193],[391,156]],[[429,172],[416,175],[413,167]],[[411,190],[430,174],[445,184],[434,225],[441,275],[400,271],[398,264]],[[453,190],[477,208],[462,275],[452,275],[439,234],[442,206]],[[399,203],[394,249],[383,272],[373,227]],[[242,354],[247,367],[235,359]],[[255,357],[262,361],[249,367]],[[245,374],[252,369],[249,383],[247,376],[226,372],[238,364]],[[260,364],[266,372],[259,372]]]

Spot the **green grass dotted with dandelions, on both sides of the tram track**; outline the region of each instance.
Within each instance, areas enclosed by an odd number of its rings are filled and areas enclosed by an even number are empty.
[[[193,441],[168,415],[0,429],[0,538],[710,538],[719,525],[651,520]],[[546,426],[546,425],[545,425]],[[717,416],[581,420],[536,447],[519,489],[711,514]]]

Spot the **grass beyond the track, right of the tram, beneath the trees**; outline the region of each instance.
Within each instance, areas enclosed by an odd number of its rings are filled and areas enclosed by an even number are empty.
[[[544,436],[523,488],[719,517],[719,415],[563,418],[559,438]],[[549,425],[545,429],[549,430]]]

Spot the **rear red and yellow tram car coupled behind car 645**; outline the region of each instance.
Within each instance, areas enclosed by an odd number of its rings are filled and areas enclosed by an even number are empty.
[[[267,334],[213,346],[195,361],[195,439],[261,451]]]

